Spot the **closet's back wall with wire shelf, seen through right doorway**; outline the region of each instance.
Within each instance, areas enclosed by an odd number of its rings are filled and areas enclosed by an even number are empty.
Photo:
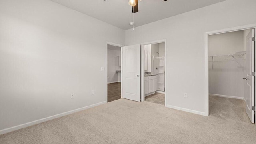
[[[208,38],[208,54],[232,55],[244,51],[244,31],[214,34]],[[232,56],[209,58],[209,93],[244,98],[244,69]],[[228,61],[224,61],[227,60]],[[244,62],[240,62],[244,66]]]

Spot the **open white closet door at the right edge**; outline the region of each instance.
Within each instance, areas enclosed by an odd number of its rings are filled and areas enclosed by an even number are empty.
[[[254,111],[252,106],[254,106],[254,29],[246,36],[246,113],[248,114],[252,123],[254,123]]]

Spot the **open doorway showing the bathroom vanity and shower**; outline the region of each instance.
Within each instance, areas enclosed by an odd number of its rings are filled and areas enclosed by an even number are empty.
[[[144,45],[144,100],[165,105],[165,42]]]

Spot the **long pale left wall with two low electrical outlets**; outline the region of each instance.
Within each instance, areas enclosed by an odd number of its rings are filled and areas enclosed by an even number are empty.
[[[124,40],[49,0],[0,0],[0,130],[105,102],[105,44]]]

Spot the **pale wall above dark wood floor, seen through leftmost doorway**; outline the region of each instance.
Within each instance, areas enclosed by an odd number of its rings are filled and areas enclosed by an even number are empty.
[[[121,70],[119,66],[119,56],[121,56],[121,48],[108,48],[108,82],[118,82],[118,73],[116,70]],[[120,81],[119,81],[120,82]]]

